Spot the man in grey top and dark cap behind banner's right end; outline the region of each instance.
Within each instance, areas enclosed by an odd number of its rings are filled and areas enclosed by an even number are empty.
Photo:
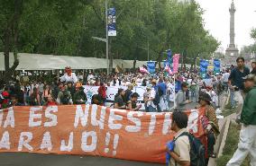
[[[187,105],[192,102],[191,100],[187,100],[186,92],[187,92],[187,83],[181,83],[181,90],[178,91],[175,102],[176,109],[185,111],[187,109]]]

